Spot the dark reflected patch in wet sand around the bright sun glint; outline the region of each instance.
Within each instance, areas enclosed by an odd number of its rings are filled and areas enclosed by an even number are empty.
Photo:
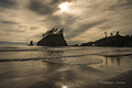
[[[42,76],[44,80],[34,84],[30,88],[68,88],[66,85],[74,82],[77,78],[75,73],[66,70],[66,66],[63,64],[47,64],[47,67],[48,74]]]

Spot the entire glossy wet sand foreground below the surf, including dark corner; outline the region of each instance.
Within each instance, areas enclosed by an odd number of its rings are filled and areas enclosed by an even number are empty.
[[[89,62],[88,57],[81,58]],[[64,64],[62,58],[56,58],[1,63],[0,88],[131,88],[131,56],[120,59],[94,56],[91,65],[81,64],[82,59],[73,61],[81,62]]]

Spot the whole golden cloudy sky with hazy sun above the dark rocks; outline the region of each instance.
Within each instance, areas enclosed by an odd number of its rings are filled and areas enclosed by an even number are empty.
[[[37,42],[53,28],[68,44],[132,34],[132,0],[0,0],[0,42]]]

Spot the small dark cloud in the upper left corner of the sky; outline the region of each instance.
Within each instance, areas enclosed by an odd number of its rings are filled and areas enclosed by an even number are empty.
[[[0,0],[0,7],[2,8],[9,8],[15,6],[15,2],[13,0]]]

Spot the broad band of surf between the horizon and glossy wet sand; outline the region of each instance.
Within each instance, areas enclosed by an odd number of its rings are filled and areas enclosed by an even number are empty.
[[[85,63],[94,64],[92,62],[94,58],[98,61],[99,57],[132,56],[132,50],[116,47],[88,47],[88,46],[87,47],[1,46],[0,55],[1,55],[0,63],[28,62],[28,61],[43,61],[45,63],[64,63],[57,61],[61,59],[65,61],[65,63],[67,64],[80,64],[81,61],[84,61],[82,64]],[[51,62],[51,59],[53,59],[54,62]]]

